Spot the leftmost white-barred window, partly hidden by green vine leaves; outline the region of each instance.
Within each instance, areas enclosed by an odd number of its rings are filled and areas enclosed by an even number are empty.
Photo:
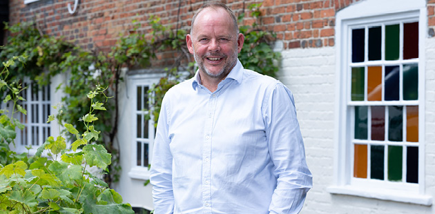
[[[27,152],[26,146],[32,147],[30,153],[35,152],[39,146],[50,136],[50,124],[47,124],[50,115],[50,86],[40,86],[36,83],[25,81],[21,106],[27,110],[27,115],[17,115],[23,130],[17,130],[17,141],[15,142],[17,152]]]

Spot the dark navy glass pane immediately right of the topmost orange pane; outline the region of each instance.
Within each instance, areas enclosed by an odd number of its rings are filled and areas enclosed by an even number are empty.
[[[385,66],[385,100],[399,100],[399,66]]]

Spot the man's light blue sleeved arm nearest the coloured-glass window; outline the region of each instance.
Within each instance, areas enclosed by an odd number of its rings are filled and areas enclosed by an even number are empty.
[[[287,87],[278,83],[265,107],[269,153],[275,164],[273,173],[278,180],[269,212],[299,213],[313,179],[305,161],[293,95]]]

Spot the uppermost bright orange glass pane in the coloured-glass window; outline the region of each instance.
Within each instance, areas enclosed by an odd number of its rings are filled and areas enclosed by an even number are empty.
[[[367,68],[367,100],[382,100],[382,67],[373,66]]]

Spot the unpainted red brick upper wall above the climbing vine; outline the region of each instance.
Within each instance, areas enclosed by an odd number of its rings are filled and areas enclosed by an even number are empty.
[[[251,3],[263,2],[262,26],[277,33],[278,39],[284,41],[284,49],[334,46],[336,11],[355,1],[358,0],[222,0],[236,14],[247,12]],[[37,21],[48,35],[63,36],[88,49],[104,49],[113,46],[119,33],[133,28],[133,19],[140,23],[139,32],[149,32],[151,14],[161,17],[162,23],[173,28],[189,30],[193,13],[203,2],[84,0],[79,1],[77,12],[71,15],[67,9],[68,3],[74,3],[71,0],[40,0],[27,5],[23,0],[11,0],[10,20],[12,23]],[[253,21],[248,17],[244,24]]]

